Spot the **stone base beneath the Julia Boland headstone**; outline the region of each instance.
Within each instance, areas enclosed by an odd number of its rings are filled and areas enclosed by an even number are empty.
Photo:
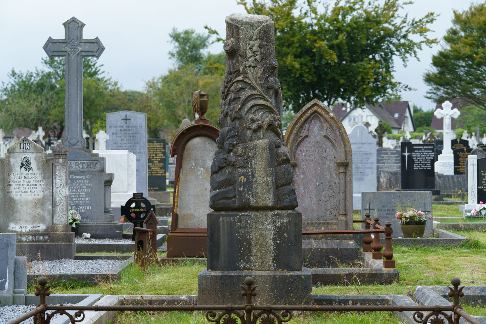
[[[17,256],[29,261],[74,259],[75,254],[73,232],[17,233]]]

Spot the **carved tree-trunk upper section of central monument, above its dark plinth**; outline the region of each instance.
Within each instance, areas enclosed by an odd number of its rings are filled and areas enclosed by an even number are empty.
[[[209,207],[293,209],[297,206],[288,150],[282,145],[282,96],[274,23],[266,16],[226,17],[223,128],[211,166]]]

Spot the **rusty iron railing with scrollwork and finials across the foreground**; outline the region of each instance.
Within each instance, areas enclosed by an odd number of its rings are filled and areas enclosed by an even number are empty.
[[[471,315],[466,313],[462,307],[459,305],[459,297],[464,296],[462,291],[463,287],[459,287],[461,281],[459,278],[453,278],[451,284],[453,287],[449,287],[449,296],[453,297],[452,306],[369,306],[369,305],[344,305],[344,306],[287,306],[287,305],[255,305],[253,304],[252,297],[257,295],[256,288],[254,286],[254,280],[252,277],[246,277],[244,279],[244,285],[241,285],[241,294],[246,297],[246,303],[244,305],[232,306],[219,305],[219,306],[209,306],[209,305],[187,305],[187,306],[152,306],[152,305],[120,305],[120,306],[48,306],[46,303],[46,296],[51,294],[47,286],[47,279],[45,277],[40,277],[37,280],[37,286],[35,286],[35,295],[40,297],[40,304],[28,313],[16,318],[15,320],[7,324],[19,324],[22,321],[30,317],[34,317],[34,324],[49,324],[52,317],[55,314],[67,315],[69,317],[70,323],[75,324],[81,322],[85,319],[84,311],[206,311],[206,319],[209,322],[216,324],[230,324],[236,323],[235,318],[239,318],[242,324],[256,324],[259,320],[260,323],[276,323],[281,324],[289,322],[292,319],[293,311],[415,311],[413,313],[413,319],[417,323],[426,324],[429,323],[446,323],[448,324],[459,324],[459,319],[463,317],[465,320],[469,321],[471,324],[480,324]],[[52,313],[48,313],[48,310],[54,310]],[[74,317],[69,314],[68,310],[76,310]],[[217,311],[219,311],[217,313]],[[424,314],[424,311],[429,311],[430,313]],[[446,311],[452,312],[447,314]],[[434,316],[434,318],[432,318]],[[79,319],[77,319],[79,318]]]

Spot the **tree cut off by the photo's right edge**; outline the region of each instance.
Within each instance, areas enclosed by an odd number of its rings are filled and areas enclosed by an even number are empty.
[[[486,110],[486,4],[454,10],[442,50],[424,75],[427,98],[443,102],[462,98]],[[462,112],[462,110],[461,110]]]

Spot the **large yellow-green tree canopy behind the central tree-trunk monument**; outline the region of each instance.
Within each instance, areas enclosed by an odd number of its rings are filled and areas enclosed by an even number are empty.
[[[394,58],[406,64],[422,46],[434,13],[410,19],[411,1],[239,0],[249,14],[275,22],[275,48],[284,105],[298,111],[313,98],[356,105],[376,103],[410,89],[393,78]],[[322,11],[320,11],[322,10]],[[208,28],[212,31],[210,28]]]

